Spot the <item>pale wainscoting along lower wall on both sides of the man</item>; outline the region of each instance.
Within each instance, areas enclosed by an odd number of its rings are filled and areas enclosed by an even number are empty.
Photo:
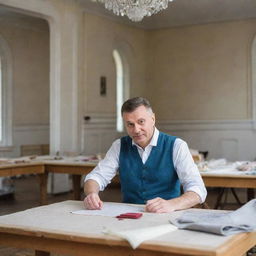
[[[190,148],[209,151],[208,159],[230,161],[256,159],[253,120],[157,121],[157,127],[184,139]],[[105,153],[112,141],[123,136],[115,129],[114,116],[97,116],[84,124],[84,152]]]

